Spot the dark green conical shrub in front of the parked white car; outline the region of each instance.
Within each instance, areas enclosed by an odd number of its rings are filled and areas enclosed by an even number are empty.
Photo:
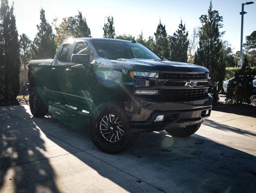
[[[254,73],[255,69],[251,67],[245,57],[242,68],[235,70],[235,78],[228,84],[226,103],[249,103]]]

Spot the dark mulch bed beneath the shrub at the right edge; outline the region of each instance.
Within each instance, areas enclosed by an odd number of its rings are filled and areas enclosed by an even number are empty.
[[[225,113],[256,117],[256,107],[248,104],[226,104],[217,102],[212,104],[212,110]]]

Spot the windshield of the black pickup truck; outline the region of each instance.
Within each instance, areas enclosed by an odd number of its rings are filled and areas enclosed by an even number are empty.
[[[95,48],[99,55],[105,59],[116,60],[123,59],[151,59],[161,60],[157,55],[147,47],[132,42],[115,40],[93,40]]]

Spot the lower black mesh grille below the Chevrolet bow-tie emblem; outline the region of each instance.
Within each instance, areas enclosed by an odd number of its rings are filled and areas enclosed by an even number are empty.
[[[170,89],[159,90],[158,96],[164,100],[170,101],[187,101],[200,99],[207,96],[208,88],[199,89]]]

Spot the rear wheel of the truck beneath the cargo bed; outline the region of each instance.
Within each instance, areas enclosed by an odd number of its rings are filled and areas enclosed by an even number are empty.
[[[44,117],[48,113],[48,101],[44,99],[41,87],[35,86],[30,89],[29,108],[34,117]]]

